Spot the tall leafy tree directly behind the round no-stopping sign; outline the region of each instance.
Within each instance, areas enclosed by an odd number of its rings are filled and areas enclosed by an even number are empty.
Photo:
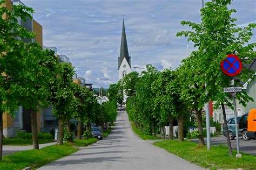
[[[226,115],[224,103],[232,107],[231,94],[224,93],[223,88],[229,86],[231,77],[224,75],[220,70],[220,62],[226,58],[227,54],[237,54],[243,63],[250,62],[255,58],[255,43],[250,44],[249,40],[252,36],[252,29],[256,24],[248,24],[244,28],[237,27],[231,15],[234,9],[228,9],[227,5],[231,4],[231,0],[213,0],[207,2],[206,7],[201,9],[201,23],[181,22],[182,25],[191,26],[193,31],[181,31],[177,36],[188,36],[188,41],[194,42],[194,47],[198,50],[192,52],[194,63],[200,69],[200,75],[194,74],[194,79],[198,84],[205,87],[203,93],[198,98],[199,108],[209,100],[215,101],[215,107],[221,105],[224,113],[224,126],[227,129]],[[192,71],[193,72],[193,71]],[[241,81],[247,81],[252,73],[247,68],[243,68],[242,72],[237,76]],[[235,85],[238,85],[236,82]],[[206,93],[207,91],[207,93]],[[207,94],[207,95],[206,95]],[[237,99],[242,105],[253,100],[245,91],[237,94]],[[232,148],[227,138],[229,154],[232,155]]]

